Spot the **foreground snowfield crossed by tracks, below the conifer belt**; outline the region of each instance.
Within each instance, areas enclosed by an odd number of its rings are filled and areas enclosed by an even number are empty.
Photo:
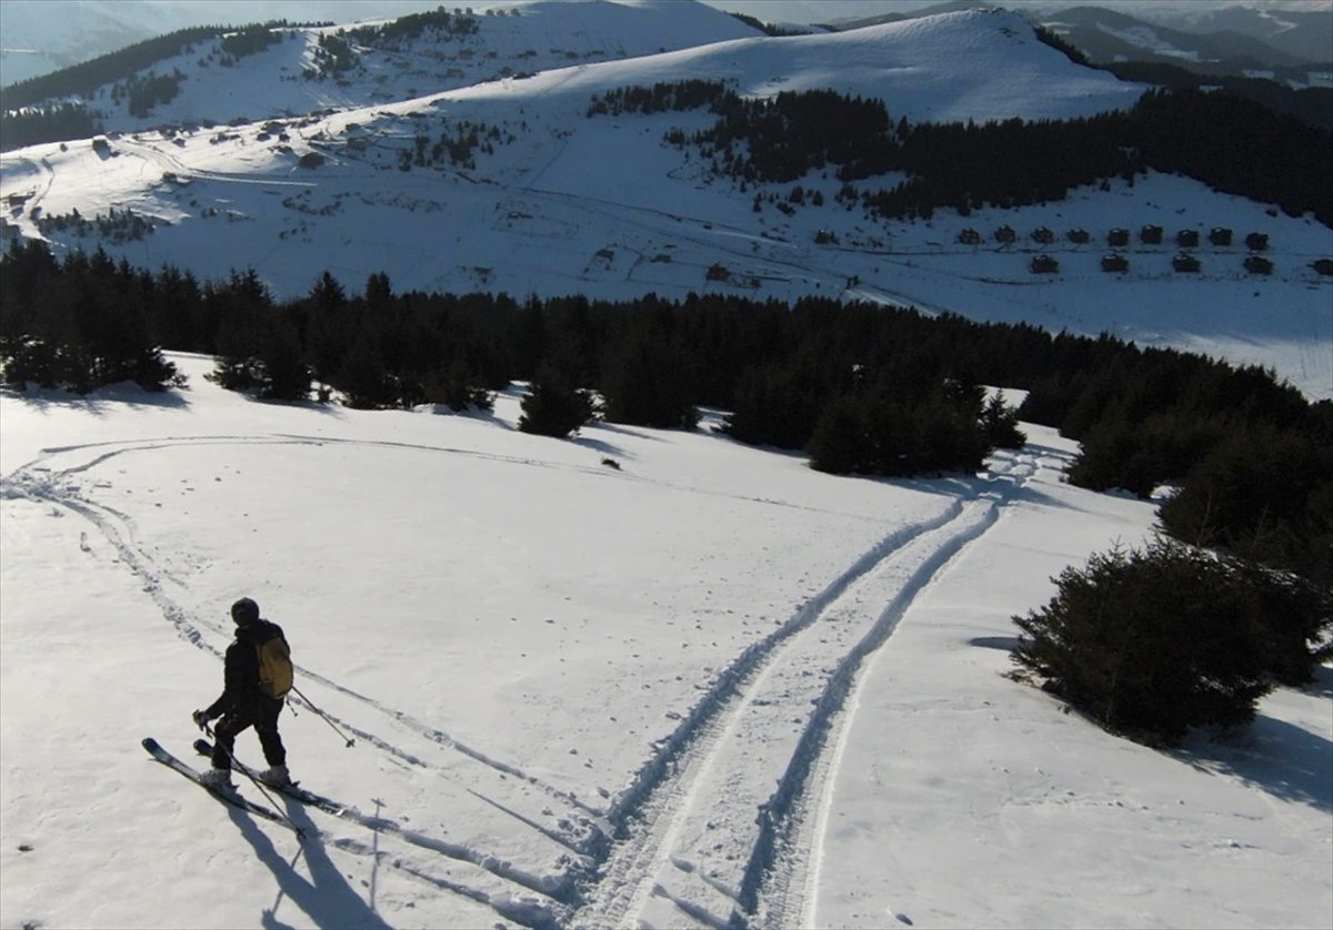
[[[1333,923],[1328,672],[1176,753],[1002,677],[1010,616],[1153,521],[1062,484],[1048,430],[976,478],[837,478],[173,358],[179,393],[0,396],[4,927]],[[356,738],[293,707],[293,774],[361,821],[280,805],[299,842],[137,746],[204,763],[241,594]]]

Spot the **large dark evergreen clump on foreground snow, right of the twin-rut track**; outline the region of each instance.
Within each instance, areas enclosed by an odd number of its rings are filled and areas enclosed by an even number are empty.
[[[1169,538],[1093,556],[1057,586],[1014,617],[1016,677],[1150,743],[1248,723],[1274,682],[1304,684],[1333,654],[1326,590]]]

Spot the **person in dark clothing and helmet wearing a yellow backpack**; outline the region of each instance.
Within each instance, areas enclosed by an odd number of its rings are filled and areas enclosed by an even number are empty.
[[[291,782],[291,775],[287,771],[287,750],[277,734],[277,715],[291,688],[292,666],[283,628],[260,620],[259,605],[248,597],[232,605],[232,620],[236,622],[236,642],[227,648],[223,694],[207,709],[193,713],[195,723],[200,729],[215,717],[221,717],[213,730],[216,737],[213,767],[203,774],[203,781],[209,787],[235,787],[231,782],[231,770],[236,737],[245,727],[253,726],[264,749],[264,759],[269,765],[259,774],[259,779],[267,785],[287,785]],[[272,660],[275,652],[279,658]],[[273,677],[269,668],[272,661],[279,666],[285,662],[285,682],[280,681],[276,689],[272,681],[268,681]],[[281,676],[283,672],[279,669],[277,677]],[[275,690],[279,692],[276,696]]]

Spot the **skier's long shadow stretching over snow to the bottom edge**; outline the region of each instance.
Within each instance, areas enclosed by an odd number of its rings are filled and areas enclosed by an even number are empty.
[[[287,815],[292,823],[305,831],[301,841],[301,851],[291,862],[273,846],[273,841],[264,830],[244,811],[228,807],[232,821],[240,829],[245,841],[255,847],[255,854],[260,862],[268,866],[277,879],[277,901],[273,907],[263,914],[263,926],[279,930],[289,925],[277,918],[277,907],[287,897],[301,910],[317,927],[367,927],[371,930],[388,930],[389,925],[375,913],[375,907],[356,893],[339,867],[329,859],[328,850],[319,838],[319,829],[311,819],[305,806],[292,801],[287,805]],[[305,858],[309,878],[296,869],[296,863]]]

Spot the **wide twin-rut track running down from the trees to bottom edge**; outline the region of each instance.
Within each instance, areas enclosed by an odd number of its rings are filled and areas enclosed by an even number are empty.
[[[938,517],[882,540],[717,677],[615,799],[608,819],[617,843],[575,926],[665,919],[724,927],[756,918],[760,926],[810,926],[806,886],[817,874],[810,863],[833,783],[830,749],[848,719],[841,710],[864,660],[1044,465],[1029,453],[994,464],[990,486],[978,484]],[[793,738],[790,723],[802,718]],[[744,811],[758,817],[750,822]],[[725,829],[710,833],[717,827]],[[721,855],[700,865],[680,843],[705,837],[721,841]],[[645,919],[660,907],[655,898],[670,910]]]

